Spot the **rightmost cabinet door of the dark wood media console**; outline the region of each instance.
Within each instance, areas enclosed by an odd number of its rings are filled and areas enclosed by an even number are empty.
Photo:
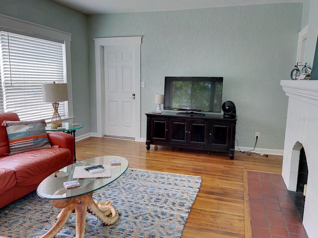
[[[227,150],[231,145],[231,123],[211,122],[209,147],[216,150]]]

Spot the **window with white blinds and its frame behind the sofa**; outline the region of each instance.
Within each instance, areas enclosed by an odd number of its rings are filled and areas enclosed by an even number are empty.
[[[67,82],[69,100],[59,102],[62,119],[73,119],[72,34],[0,14],[0,112],[15,112],[20,119],[53,115],[44,103],[41,85]]]

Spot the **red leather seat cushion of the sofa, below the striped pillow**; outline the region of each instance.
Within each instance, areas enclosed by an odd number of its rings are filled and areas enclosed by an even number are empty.
[[[67,158],[67,159],[66,159]],[[71,152],[66,148],[28,151],[0,158],[0,168],[12,170],[15,186],[40,183],[43,179],[69,164]]]

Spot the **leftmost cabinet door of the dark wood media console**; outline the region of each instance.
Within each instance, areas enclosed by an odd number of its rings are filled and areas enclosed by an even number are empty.
[[[167,118],[152,118],[150,122],[150,140],[151,142],[168,140]]]

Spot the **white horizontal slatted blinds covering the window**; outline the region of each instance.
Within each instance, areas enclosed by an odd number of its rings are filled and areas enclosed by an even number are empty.
[[[15,112],[22,120],[51,119],[53,107],[44,103],[41,85],[65,80],[64,44],[0,32],[0,110]],[[60,102],[67,116],[67,102]]]

